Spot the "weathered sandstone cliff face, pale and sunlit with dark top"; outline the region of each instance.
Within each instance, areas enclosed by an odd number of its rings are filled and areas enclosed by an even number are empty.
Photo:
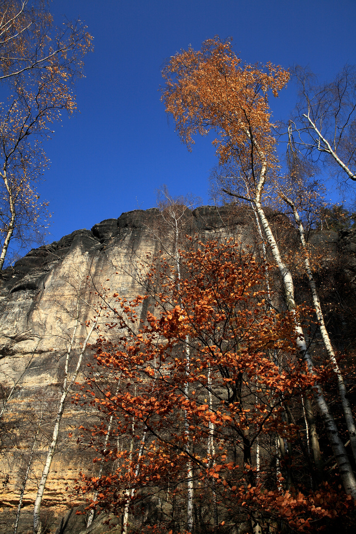
[[[73,376],[90,329],[85,321],[99,317],[102,296],[110,299],[117,293],[130,300],[143,294],[144,273],[152,257],[160,251],[169,256],[175,243],[183,247],[186,234],[196,234],[203,240],[233,236],[245,244],[256,239],[252,230],[254,217],[248,209],[181,208],[179,216],[178,235],[169,213],[162,215],[157,209],[123,213],[118,219],[94,225],[91,231],[77,230],[51,245],[33,249],[13,268],[3,271],[0,532],[12,531],[30,459],[18,532],[31,531],[33,502],[56,418],[66,354],[70,354],[69,376]],[[276,224],[281,224],[276,219]],[[322,243],[333,256],[346,254],[349,260],[345,272],[353,284],[355,233],[319,233],[312,236],[312,241]],[[141,316],[145,317],[145,309]],[[89,341],[94,342],[94,337]],[[85,352],[82,373],[85,358],[90,358],[90,350]],[[76,381],[83,381],[83,376],[79,375]],[[57,534],[85,530],[85,516],[71,511],[82,502],[69,495],[80,471],[94,469],[90,450],[78,448],[75,439],[68,437],[88,418],[85,407],[70,402],[74,389],[67,398],[42,506],[43,524],[48,532]],[[85,532],[104,531],[100,521],[99,517]]]

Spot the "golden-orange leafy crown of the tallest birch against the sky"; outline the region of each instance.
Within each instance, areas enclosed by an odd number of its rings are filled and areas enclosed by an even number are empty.
[[[165,109],[189,148],[196,133],[213,130],[220,163],[233,158],[249,171],[255,142],[254,165],[261,163],[261,152],[268,167],[275,166],[268,93],[278,96],[289,80],[287,70],[271,63],[244,65],[231,40],[216,37],[205,41],[200,51],[189,48],[171,57],[162,75]]]

